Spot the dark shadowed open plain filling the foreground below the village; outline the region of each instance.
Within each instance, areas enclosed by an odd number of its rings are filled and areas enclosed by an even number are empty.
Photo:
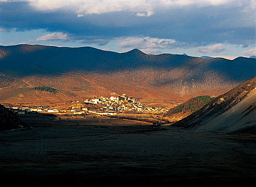
[[[256,182],[255,135],[107,118],[21,120],[32,128],[1,132],[0,177],[10,185],[248,186]]]

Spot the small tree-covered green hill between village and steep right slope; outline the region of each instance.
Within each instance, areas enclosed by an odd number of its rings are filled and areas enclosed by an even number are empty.
[[[214,97],[210,96],[197,96],[193,97],[187,102],[170,108],[170,110],[165,113],[163,116],[167,117],[171,121],[177,121],[187,117],[188,115],[198,111],[201,107],[213,100]]]

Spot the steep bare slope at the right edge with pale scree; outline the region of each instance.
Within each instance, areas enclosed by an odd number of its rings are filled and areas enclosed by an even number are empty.
[[[224,133],[256,133],[256,77],[213,99],[174,126]]]

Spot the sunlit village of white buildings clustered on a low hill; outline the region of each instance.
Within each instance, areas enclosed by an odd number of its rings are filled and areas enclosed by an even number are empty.
[[[127,96],[125,93],[118,95],[115,92],[107,97],[95,97],[81,101],[74,101],[67,108],[54,108],[44,106],[15,106],[4,104],[18,115],[98,115],[113,116],[118,113],[162,113],[166,108],[151,107],[142,104],[139,99]]]

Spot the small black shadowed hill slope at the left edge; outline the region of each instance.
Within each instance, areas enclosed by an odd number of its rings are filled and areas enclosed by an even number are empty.
[[[3,105],[0,104],[0,130],[24,128],[27,125]]]

